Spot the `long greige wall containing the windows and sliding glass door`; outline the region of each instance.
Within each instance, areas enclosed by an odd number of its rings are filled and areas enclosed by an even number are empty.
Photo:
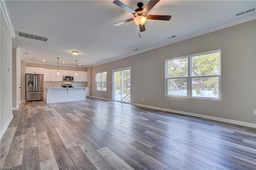
[[[256,123],[256,22],[190,38],[92,67],[92,96],[112,99],[112,70],[132,67],[132,103]],[[221,49],[221,101],[165,96],[165,59]],[[107,91],[95,90],[95,74],[107,71]],[[144,97],[144,101],[142,101]]]

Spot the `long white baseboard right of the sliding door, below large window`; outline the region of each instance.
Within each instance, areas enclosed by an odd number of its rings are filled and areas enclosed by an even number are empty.
[[[214,120],[214,121],[221,121],[221,122],[233,123],[233,124],[236,124],[236,125],[242,125],[242,126],[246,126],[246,127],[256,128],[256,124],[254,124],[254,123],[247,123],[247,122],[242,122],[242,121],[235,121],[235,120],[232,120],[232,119],[224,119],[224,118],[220,118],[220,117],[213,117],[213,116],[207,116],[207,115],[200,115],[200,114],[196,114],[196,113],[176,111],[176,110],[172,110],[172,109],[165,109],[165,108],[161,108],[161,107],[141,105],[141,104],[137,104],[137,103],[131,103],[131,104],[135,105],[135,106],[146,107],[146,108],[156,109],[156,110],[160,110],[160,111],[168,111],[168,112],[173,112],[173,113],[179,113],[179,114],[182,114],[182,115],[201,117],[201,118],[205,118],[205,119],[211,119],[211,120]]]

